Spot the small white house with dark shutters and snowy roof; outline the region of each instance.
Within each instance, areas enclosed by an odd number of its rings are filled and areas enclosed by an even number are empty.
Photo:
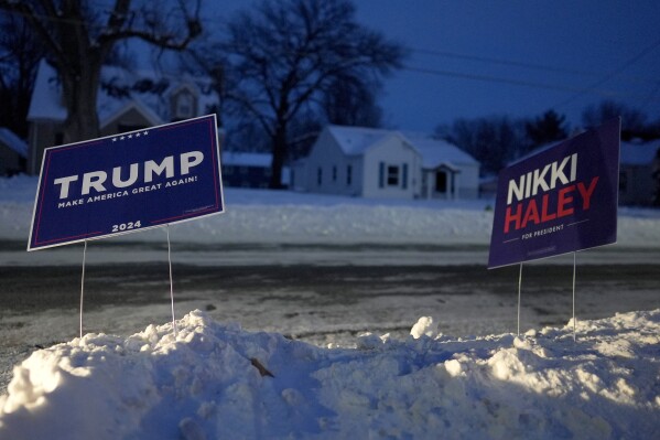
[[[479,164],[430,137],[327,126],[292,170],[297,191],[363,197],[476,197]]]

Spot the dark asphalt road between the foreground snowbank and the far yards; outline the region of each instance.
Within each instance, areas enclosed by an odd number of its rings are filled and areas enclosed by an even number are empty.
[[[350,345],[365,331],[405,337],[422,315],[448,335],[517,331],[518,266],[174,265],[176,318],[206,310],[249,331]],[[572,266],[523,267],[521,330],[572,315]],[[0,267],[0,393],[36,348],[78,335],[79,266]],[[660,307],[660,264],[577,268],[576,316]],[[167,262],[86,268],[84,331],[129,335],[171,320]]]

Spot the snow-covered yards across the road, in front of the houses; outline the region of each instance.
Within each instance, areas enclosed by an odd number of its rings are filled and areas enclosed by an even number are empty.
[[[0,179],[0,239],[25,244],[36,179]],[[225,189],[226,213],[171,227],[172,240],[199,245],[480,245],[490,242],[494,201],[382,201],[290,191]],[[658,248],[660,210],[623,208],[618,246]],[[162,233],[125,242],[163,242]]]

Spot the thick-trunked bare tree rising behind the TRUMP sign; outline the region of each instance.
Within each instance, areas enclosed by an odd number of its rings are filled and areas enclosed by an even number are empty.
[[[113,46],[128,39],[183,50],[202,31],[199,1],[0,0],[0,9],[20,14],[47,51],[58,72],[67,118],[64,140],[99,136],[96,109],[101,66]],[[195,3],[193,8],[186,6]]]

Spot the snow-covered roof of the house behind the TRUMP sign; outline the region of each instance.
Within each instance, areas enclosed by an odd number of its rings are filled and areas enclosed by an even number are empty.
[[[118,66],[102,66],[97,110],[101,127],[117,117],[131,104],[150,121],[163,124],[172,120],[170,97],[172,93],[187,87],[197,92],[196,115],[206,115],[217,104],[217,95],[207,78],[190,75],[162,76],[154,72],[131,72]],[[47,62],[39,65],[39,72],[28,112],[29,120],[48,119],[64,121],[66,108],[62,105],[57,72]]]

